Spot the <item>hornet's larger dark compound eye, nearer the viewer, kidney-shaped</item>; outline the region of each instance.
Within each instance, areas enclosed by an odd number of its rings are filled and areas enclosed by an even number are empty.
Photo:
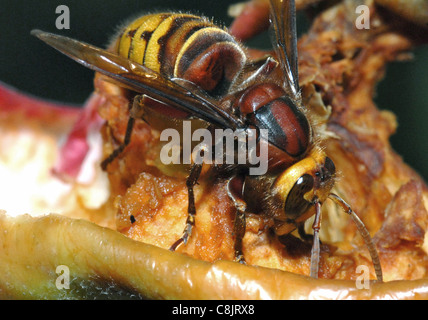
[[[305,193],[314,187],[314,178],[309,174],[304,174],[297,179],[293,188],[285,200],[285,215],[289,219],[297,219],[304,214],[312,205],[311,202],[304,198]]]

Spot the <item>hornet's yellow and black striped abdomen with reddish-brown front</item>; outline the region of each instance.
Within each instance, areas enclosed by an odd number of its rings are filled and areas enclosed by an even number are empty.
[[[116,50],[163,76],[223,95],[245,64],[236,40],[208,19],[158,13],[140,17],[120,34]]]

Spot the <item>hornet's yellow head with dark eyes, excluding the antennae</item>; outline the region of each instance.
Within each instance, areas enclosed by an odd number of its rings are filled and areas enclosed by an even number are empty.
[[[303,160],[281,173],[273,184],[281,199],[282,212],[277,216],[277,234],[295,229],[312,214],[311,207],[324,202],[334,185],[335,167],[320,148],[314,148]]]

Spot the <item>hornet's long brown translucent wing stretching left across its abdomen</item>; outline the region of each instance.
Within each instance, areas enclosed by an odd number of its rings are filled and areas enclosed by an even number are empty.
[[[202,120],[221,128],[236,129],[241,125],[238,118],[217,106],[202,91],[186,88],[180,81],[132,62],[112,52],[68,37],[40,30],[31,34],[78,63],[113,79],[119,85],[138,93],[145,93]]]

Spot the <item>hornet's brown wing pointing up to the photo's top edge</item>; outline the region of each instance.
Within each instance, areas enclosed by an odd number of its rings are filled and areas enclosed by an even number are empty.
[[[273,46],[285,79],[287,93],[300,99],[297,64],[296,6],[294,0],[270,0]]]

